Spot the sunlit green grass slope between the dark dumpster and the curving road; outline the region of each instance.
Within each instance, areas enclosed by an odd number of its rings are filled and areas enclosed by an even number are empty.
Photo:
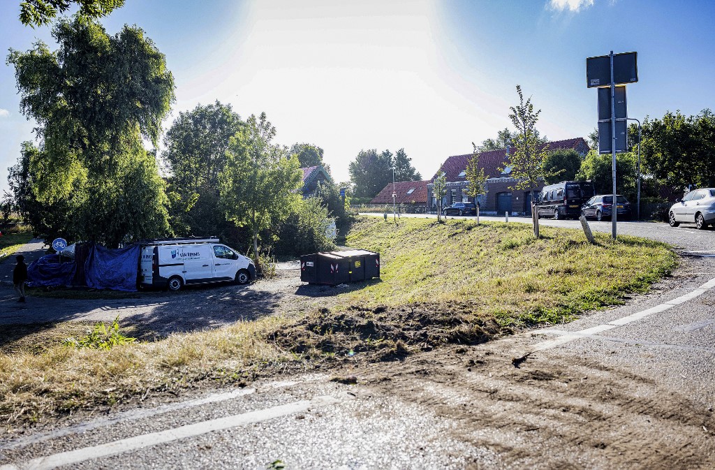
[[[581,230],[472,220],[366,217],[348,245],[380,253],[382,282],[346,296],[345,304],[409,305],[463,301],[501,323],[557,323],[642,293],[677,265],[663,243],[621,235],[614,243]]]

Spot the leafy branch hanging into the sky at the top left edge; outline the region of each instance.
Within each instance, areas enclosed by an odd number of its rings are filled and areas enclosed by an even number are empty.
[[[22,24],[42,26],[49,24],[59,14],[64,14],[72,4],[77,4],[77,16],[82,21],[106,16],[124,5],[125,0],[24,0],[20,2]]]

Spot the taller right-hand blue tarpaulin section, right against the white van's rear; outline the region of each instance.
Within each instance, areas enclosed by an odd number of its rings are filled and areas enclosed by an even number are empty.
[[[95,289],[137,291],[139,245],[109,250],[93,245],[84,262],[84,279]]]

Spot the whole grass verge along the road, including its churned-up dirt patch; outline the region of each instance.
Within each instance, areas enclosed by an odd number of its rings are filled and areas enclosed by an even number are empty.
[[[596,235],[592,246],[577,230],[543,227],[541,240],[530,230],[516,223],[395,225],[363,218],[347,243],[380,252],[382,279],[337,294],[333,308],[109,351],[18,352],[26,338],[14,338],[4,351],[15,352],[0,354],[0,421],[15,426],[207,381],[242,383],[286,369],[488,341],[515,326],[557,323],[621,303],[677,263],[661,243],[628,237],[612,243]]]

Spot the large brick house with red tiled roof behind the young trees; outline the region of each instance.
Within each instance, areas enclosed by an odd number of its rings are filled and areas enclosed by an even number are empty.
[[[576,150],[581,157],[585,157],[588,151],[591,150],[583,137],[548,142],[546,146],[548,147],[548,152],[561,149]],[[481,152],[479,154],[479,166],[484,169],[484,175],[488,179],[486,193],[479,195],[476,200],[470,200],[466,193],[469,185],[465,179],[466,170],[472,154],[448,157],[440,167],[440,170],[435,173],[428,183],[430,210],[437,210],[437,200],[432,192],[433,182],[441,173],[445,173],[447,195],[443,197],[442,207],[459,201],[478,202],[481,208],[480,212],[485,215],[501,215],[505,212],[509,212],[510,215],[531,214],[531,191],[513,189],[518,180],[511,176],[511,168],[506,164],[509,152],[512,151],[507,147],[506,149]],[[534,187],[533,190],[538,192],[541,191],[542,187],[543,182]]]

